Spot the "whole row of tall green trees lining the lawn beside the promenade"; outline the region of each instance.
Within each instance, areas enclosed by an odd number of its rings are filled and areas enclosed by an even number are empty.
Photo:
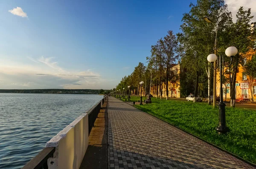
[[[223,69],[223,83],[230,84],[230,101],[235,107],[238,67],[244,65],[244,72],[256,77],[256,44],[255,32],[250,27],[253,18],[251,9],[244,9],[241,6],[236,14],[237,20],[233,22],[232,14],[224,0],[197,0],[196,4],[191,3],[189,7],[190,11],[183,14],[181,32],[174,34],[171,30],[167,31],[165,37],[151,46],[151,56],[146,57],[146,65],[139,62],[134,71],[124,76],[111,91],[125,88],[127,92],[127,86],[131,86],[134,95],[139,96],[139,82],[144,81],[145,94],[149,94],[151,87],[154,86],[155,93],[162,99],[162,85],[165,85],[168,99],[169,82],[179,80],[181,97],[188,96],[189,93],[194,93],[195,97],[207,96],[210,65],[207,56],[214,53],[215,35],[218,30],[216,55],[226,56],[225,50],[229,46],[235,46],[239,51],[233,57],[230,67]],[[205,22],[204,16],[209,17],[215,24]],[[252,59],[245,63],[248,53]],[[225,62],[230,62],[230,58],[224,58]],[[180,62],[179,76],[172,70],[177,61]],[[212,89],[213,70],[210,71]]]

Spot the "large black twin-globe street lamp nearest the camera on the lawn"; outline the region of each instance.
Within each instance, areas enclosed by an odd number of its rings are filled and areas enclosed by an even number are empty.
[[[229,65],[225,65],[223,57],[222,57],[222,62],[221,62],[221,56],[219,56],[218,65],[220,66],[220,102],[218,104],[218,106],[219,106],[219,125],[218,125],[218,127],[216,127],[216,130],[219,133],[226,133],[229,131],[228,127],[226,126],[226,112],[225,112],[226,104],[223,102],[222,64],[225,67],[230,67],[230,65],[232,63],[233,56],[235,56],[237,54],[237,52],[238,52],[237,48],[233,47],[233,46],[230,46],[226,49],[225,54],[230,57]],[[218,57],[215,54],[209,54],[207,56],[207,60],[208,60],[208,62],[211,63],[211,67],[212,67],[212,63],[216,62],[217,59],[218,59]],[[216,66],[216,68],[212,68],[212,69],[216,70],[218,68],[218,65]]]

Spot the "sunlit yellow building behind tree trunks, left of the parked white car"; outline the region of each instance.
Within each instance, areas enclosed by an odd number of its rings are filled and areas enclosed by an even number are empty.
[[[168,95],[169,97],[180,98],[180,64],[173,64],[171,71],[173,72],[173,78],[168,83]],[[151,86],[150,93],[153,96],[157,96],[157,86]],[[158,96],[160,97],[160,85],[158,85]],[[166,97],[166,82],[162,83],[162,97]]]

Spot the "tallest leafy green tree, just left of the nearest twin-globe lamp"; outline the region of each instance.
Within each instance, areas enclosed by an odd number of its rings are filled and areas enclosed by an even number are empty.
[[[200,76],[207,75],[204,70],[208,68],[207,56],[214,51],[216,31],[218,29],[221,34],[227,21],[231,20],[231,14],[223,0],[198,0],[196,5],[191,3],[190,8],[189,13],[183,14],[183,24],[180,26],[182,33],[177,34],[177,37],[180,48],[185,51],[183,66],[195,79],[195,102]],[[205,15],[215,24],[206,24],[202,20]]]

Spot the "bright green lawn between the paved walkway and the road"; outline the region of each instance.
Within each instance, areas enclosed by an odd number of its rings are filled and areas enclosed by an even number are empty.
[[[138,99],[137,96],[131,97],[131,101]],[[215,130],[218,126],[218,108],[212,109],[212,106],[204,102],[155,98],[151,100],[152,104],[134,106],[247,161],[256,163],[256,110],[226,107],[226,121],[230,132],[219,135]]]

